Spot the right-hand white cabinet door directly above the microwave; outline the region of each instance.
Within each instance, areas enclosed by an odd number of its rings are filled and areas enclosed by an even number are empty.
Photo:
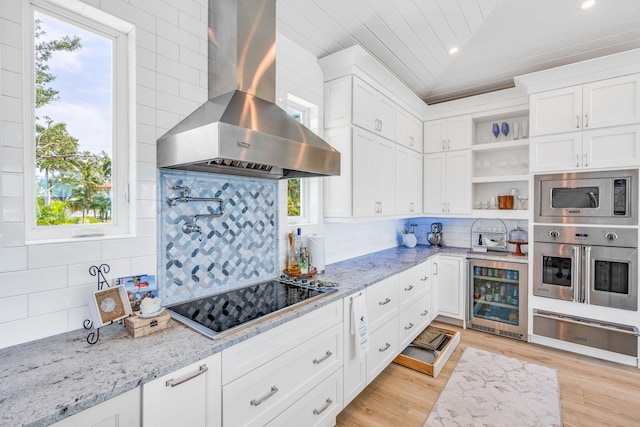
[[[618,126],[584,132],[585,168],[637,167],[640,164],[640,126]]]

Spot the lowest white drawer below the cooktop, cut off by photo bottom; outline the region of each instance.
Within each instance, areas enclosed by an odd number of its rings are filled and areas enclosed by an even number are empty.
[[[334,426],[341,410],[342,369],[338,369],[267,426]]]

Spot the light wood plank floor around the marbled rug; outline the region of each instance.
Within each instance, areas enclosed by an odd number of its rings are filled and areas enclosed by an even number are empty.
[[[640,369],[469,329],[438,378],[391,363],[337,426],[421,427],[467,346],[557,369],[565,426],[640,426]]]

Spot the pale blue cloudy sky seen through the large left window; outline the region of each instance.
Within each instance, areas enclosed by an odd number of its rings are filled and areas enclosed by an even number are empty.
[[[48,61],[49,73],[56,76],[49,86],[58,90],[58,100],[38,109],[40,117],[67,124],[78,139],[80,151],[105,151],[112,146],[112,41],[63,21],[36,12],[46,32],[44,40],[65,35],[80,38],[82,47],[74,52],[55,52]]]

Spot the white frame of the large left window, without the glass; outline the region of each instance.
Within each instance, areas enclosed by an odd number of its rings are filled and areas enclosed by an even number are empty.
[[[35,12],[62,20],[112,41],[112,216],[110,223],[36,224],[35,194]],[[130,179],[135,164],[135,27],[79,0],[31,0],[23,8],[24,27],[24,204],[25,242],[95,240],[130,237],[134,233],[134,206]]]

